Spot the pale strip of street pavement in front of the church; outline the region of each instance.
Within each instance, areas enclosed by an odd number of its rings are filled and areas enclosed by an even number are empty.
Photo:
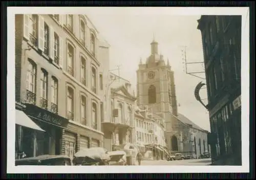
[[[209,164],[211,164],[211,159],[179,160],[179,161],[166,161],[166,160],[158,160],[158,161],[145,160],[145,161],[141,161],[141,166],[157,166],[157,165],[207,166]],[[136,162],[136,165],[138,165],[138,162]]]

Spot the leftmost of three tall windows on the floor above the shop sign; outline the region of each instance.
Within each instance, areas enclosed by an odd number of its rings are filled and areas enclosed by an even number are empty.
[[[36,98],[36,64],[28,59],[28,70],[27,70],[27,101],[35,104]]]

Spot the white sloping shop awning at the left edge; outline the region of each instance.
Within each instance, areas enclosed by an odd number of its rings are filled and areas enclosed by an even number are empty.
[[[39,131],[45,131],[42,130],[36,123],[34,123],[34,121],[32,121],[32,119],[30,119],[23,111],[15,109],[15,114],[15,124]]]

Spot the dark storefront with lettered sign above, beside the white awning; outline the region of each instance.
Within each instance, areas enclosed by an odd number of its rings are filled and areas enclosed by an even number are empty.
[[[62,129],[68,124],[68,119],[58,116],[57,114],[51,113],[46,109],[42,109],[33,104],[25,104],[26,109],[24,112],[30,117],[42,131],[35,131],[34,134],[31,130],[26,129],[24,137],[33,138],[33,155],[31,150],[28,151],[29,156],[38,156],[42,154],[61,154],[62,144]],[[28,146],[31,144],[30,141],[24,141],[23,144]]]

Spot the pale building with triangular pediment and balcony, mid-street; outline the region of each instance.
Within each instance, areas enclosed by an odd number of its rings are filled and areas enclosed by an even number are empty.
[[[134,143],[135,121],[134,105],[136,97],[131,83],[118,75],[110,73],[109,89],[112,116],[103,124],[104,147],[109,151]]]

